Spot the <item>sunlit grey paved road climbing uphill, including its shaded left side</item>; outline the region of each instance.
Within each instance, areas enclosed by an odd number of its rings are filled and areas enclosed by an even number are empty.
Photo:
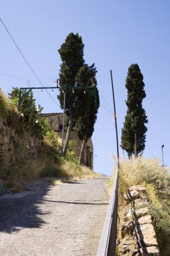
[[[108,177],[0,197],[0,255],[96,255],[108,208]]]

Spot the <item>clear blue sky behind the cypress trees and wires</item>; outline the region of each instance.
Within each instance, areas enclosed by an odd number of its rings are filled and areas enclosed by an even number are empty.
[[[116,155],[110,69],[114,77],[119,140],[126,115],[128,67],[138,63],[144,75],[148,116],[144,156],[161,160],[165,144],[165,164],[170,165],[170,1],[169,0],[5,0],[1,19],[22,53],[42,80],[53,86],[60,69],[58,49],[70,32],[79,33],[85,44],[85,61],[97,67],[101,107],[93,133],[94,170],[110,174]],[[7,94],[12,87],[40,86],[0,24],[0,87]],[[2,75],[23,77],[15,79]],[[50,92],[56,99],[56,92]],[[44,113],[60,112],[46,92],[34,92]],[[107,104],[105,103],[107,102]],[[108,110],[105,110],[107,108]],[[120,156],[122,150],[120,148]]]

